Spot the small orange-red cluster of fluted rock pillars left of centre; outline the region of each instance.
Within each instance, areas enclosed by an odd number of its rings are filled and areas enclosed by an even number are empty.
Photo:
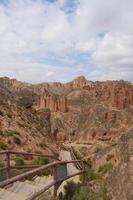
[[[66,112],[67,100],[65,96],[44,94],[39,96],[37,101],[37,110],[49,108],[51,112]]]

